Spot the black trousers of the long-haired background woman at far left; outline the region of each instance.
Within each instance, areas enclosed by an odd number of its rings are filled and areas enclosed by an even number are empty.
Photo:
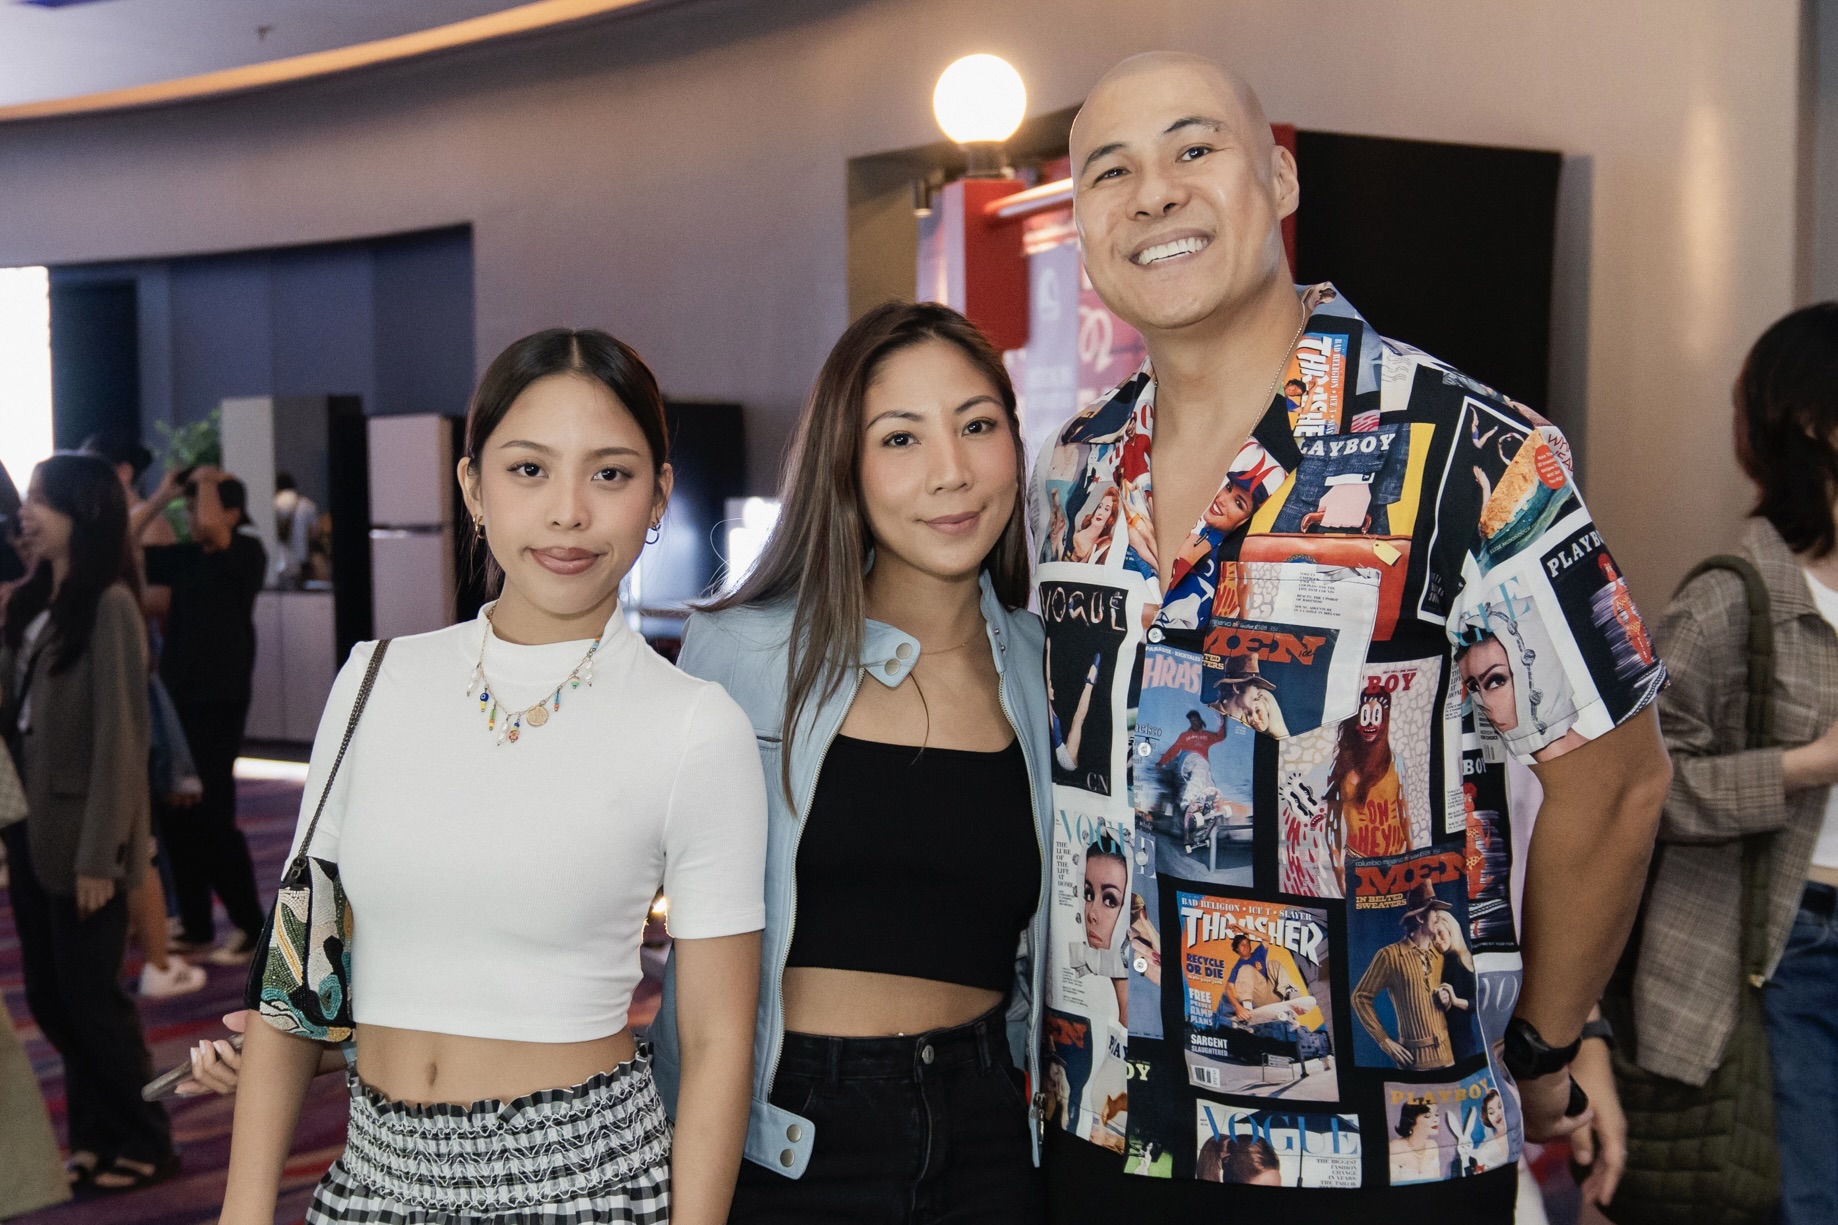
[[[101,910],[77,918],[77,899],[51,892],[31,868],[26,826],[9,826],[13,922],[26,969],[26,1006],[64,1059],[70,1148],[160,1162],[173,1153],[165,1107],[142,1102],[153,1059],[140,1012],[121,988],[127,951],[127,894],[116,890]]]

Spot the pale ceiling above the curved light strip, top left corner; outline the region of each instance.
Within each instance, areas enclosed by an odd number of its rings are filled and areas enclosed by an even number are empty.
[[[526,0],[0,0],[0,107],[410,35]]]

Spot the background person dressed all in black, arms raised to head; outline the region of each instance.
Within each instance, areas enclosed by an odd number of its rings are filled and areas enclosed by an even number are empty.
[[[235,824],[235,758],[248,721],[250,677],[255,671],[255,594],[268,552],[248,522],[243,482],[215,467],[165,475],[134,511],[143,530],[180,491],[191,517],[191,541],[145,550],[147,581],[171,589],[160,679],[197,763],[204,795],[199,804],[165,813],[165,848],[178,894],[180,953],[210,949],[215,940],[211,894],[222,898],[232,933],[208,958],[219,966],[246,962],[261,934],[263,909],[248,841]]]

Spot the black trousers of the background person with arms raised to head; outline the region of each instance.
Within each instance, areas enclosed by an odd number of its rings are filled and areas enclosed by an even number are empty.
[[[265,914],[255,896],[255,866],[248,839],[235,824],[235,758],[243,752],[246,719],[248,703],[178,706],[178,725],[191,745],[204,796],[191,807],[165,809],[160,830],[173,861],[180,934],[195,944],[210,944],[215,936],[213,892],[224,899],[232,923],[250,938],[261,934]]]

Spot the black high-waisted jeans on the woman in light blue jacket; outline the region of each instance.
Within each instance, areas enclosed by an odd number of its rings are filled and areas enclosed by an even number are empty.
[[[811,1164],[743,1161],[728,1225],[1046,1219],[1002,1008],[910,1037],[787,1034],[770,1098],[814,1124]]]

